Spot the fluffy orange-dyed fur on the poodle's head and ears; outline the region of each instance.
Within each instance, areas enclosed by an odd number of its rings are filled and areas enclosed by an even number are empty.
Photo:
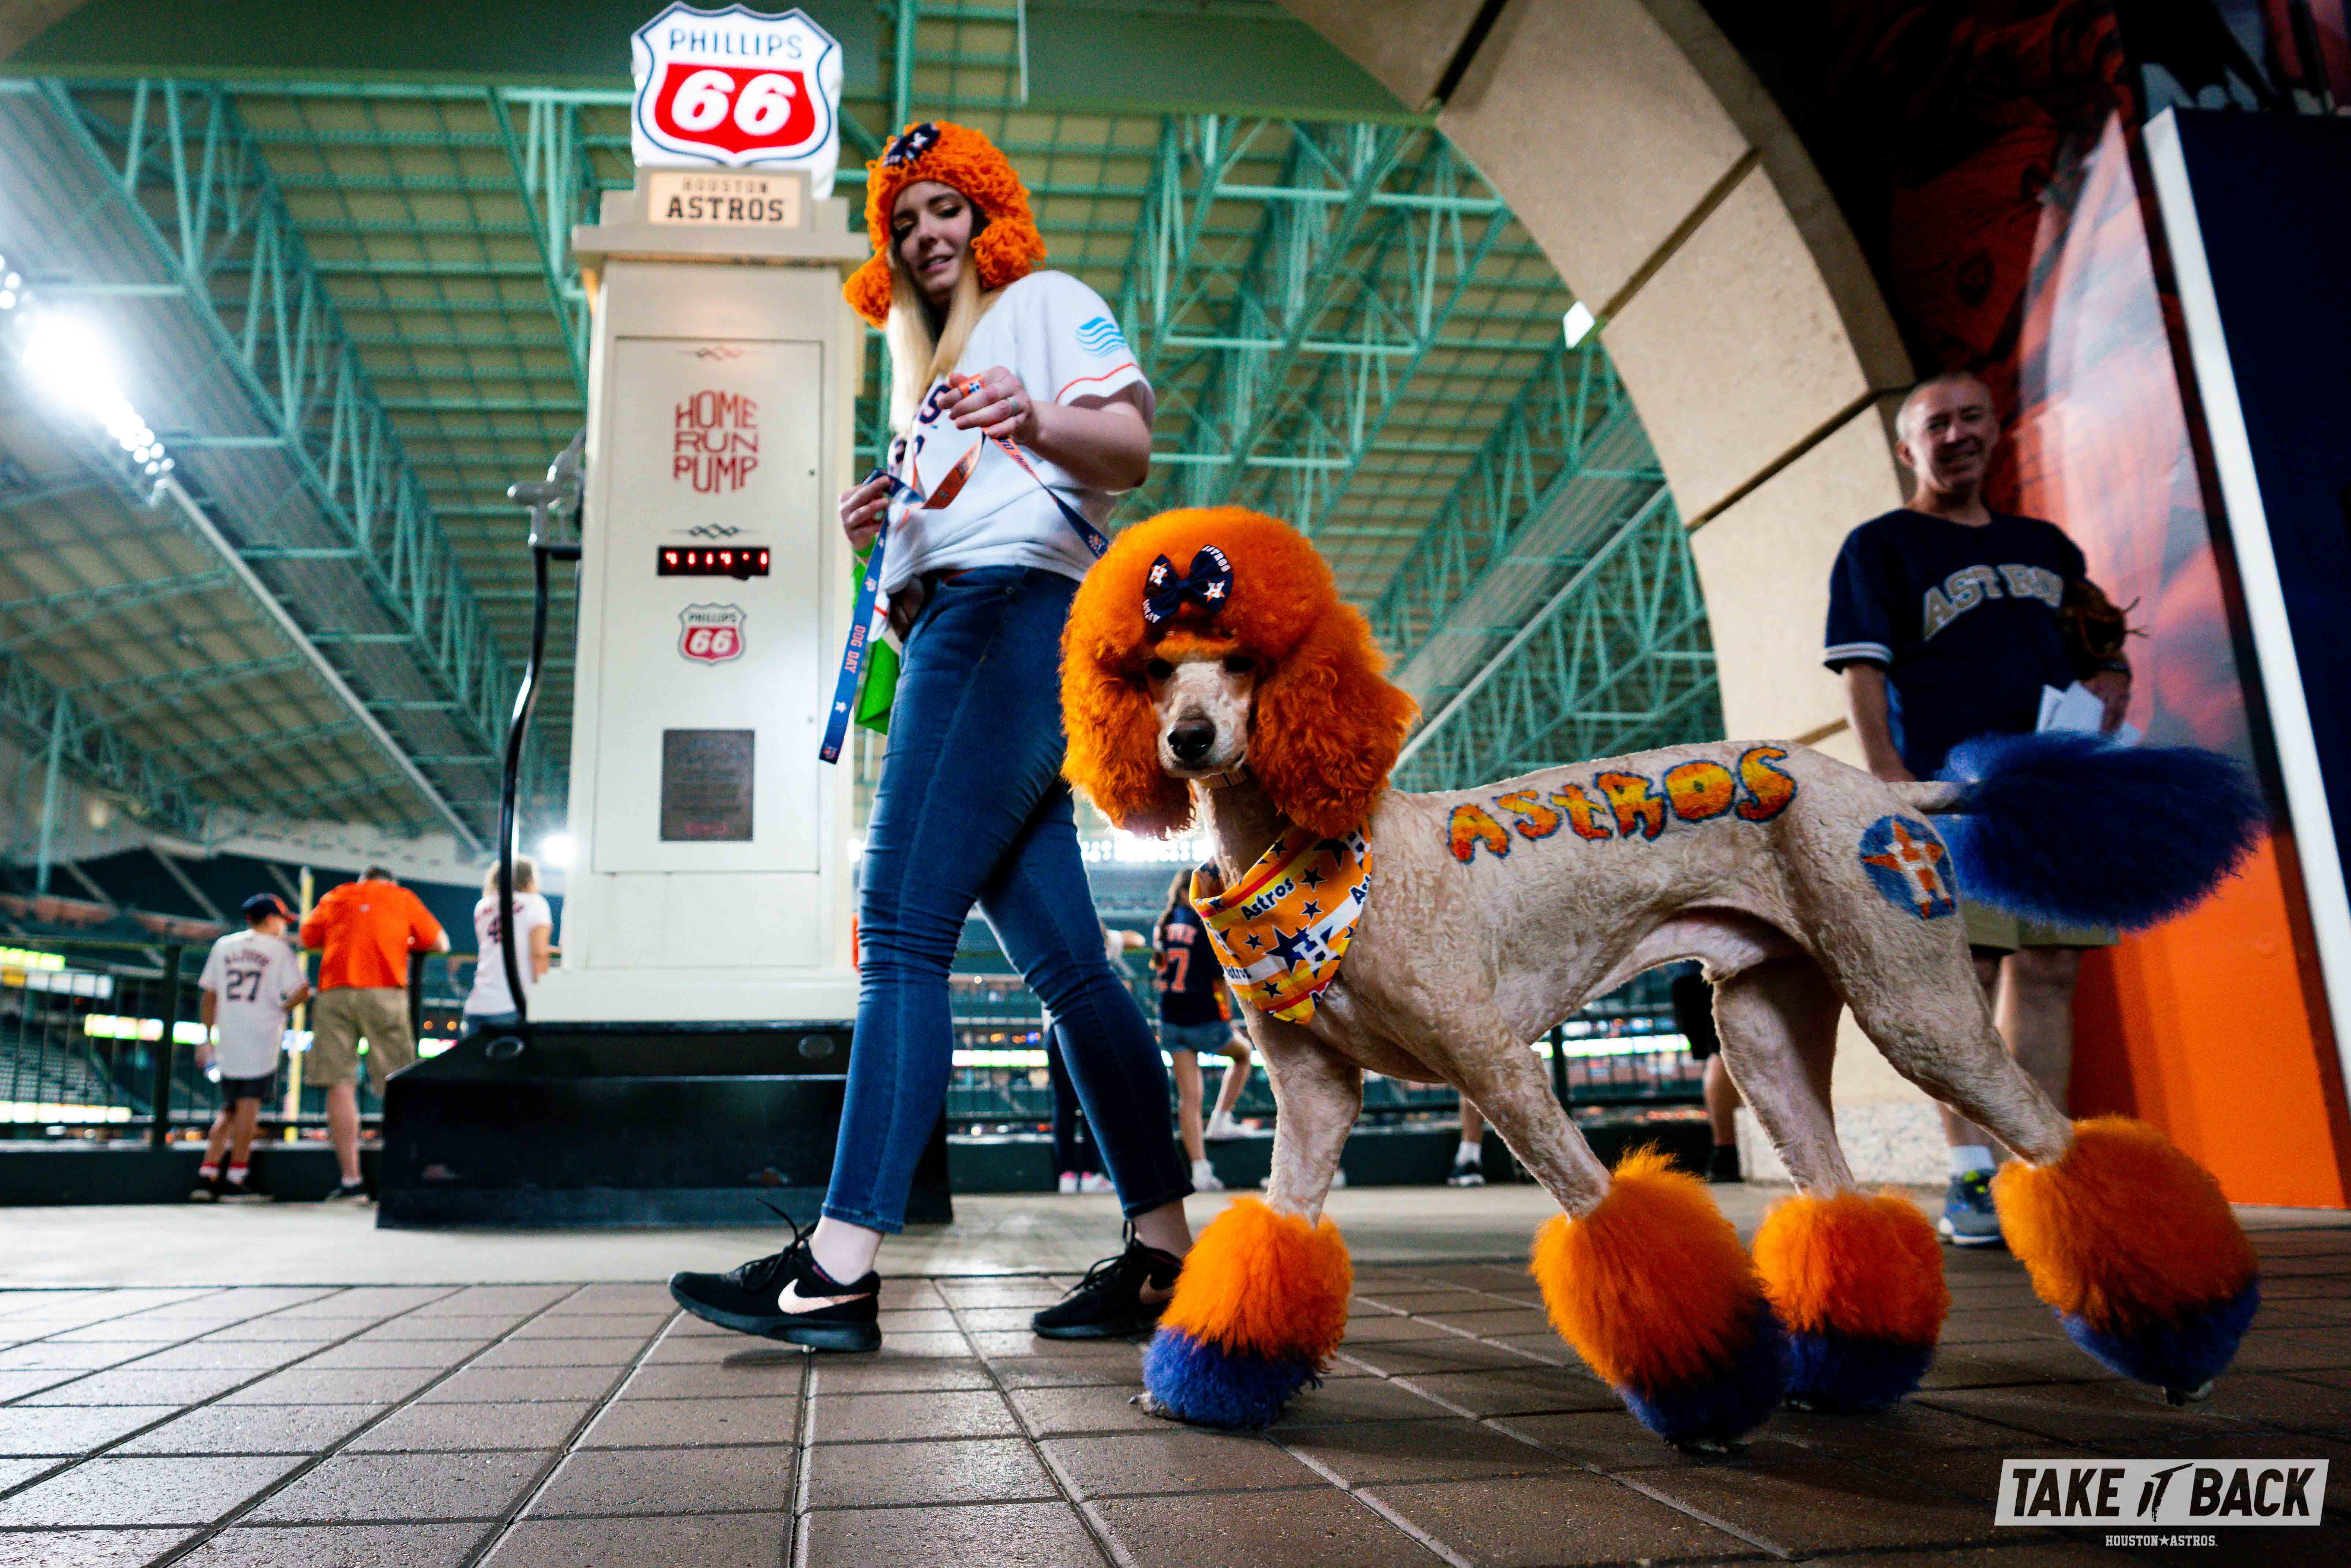
[[[1128,832],[1166,837],[1192,818],[1190,788],[1159,769],[1159,715],[1143,677],[1154,654],[1190,635],[1147,637],[1143,578],[1157,557],[1187,567],[1201,545],[1232,562],[1232,602],[1197,644],[1260,665],[1248,771],[1307,832],[1361,827],[1420,705],[1380,677],[1387,661],[1371,623],[1338,597],[1314,545],[1237,505],[1138,522],[1086,574],[1060,639],[1063,773]]]

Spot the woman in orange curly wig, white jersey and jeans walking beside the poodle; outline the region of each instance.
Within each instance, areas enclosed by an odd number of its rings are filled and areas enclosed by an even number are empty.
[[[882,1345],[875,1255],[900,1229],[947,1095],[947,966],[973,903],[1056,1018],[1131,1225],[1032,1321],[1150,1328],[1192,1246],[1168,1081],[1103,957],[1060,780],[1060,628],[1117,491],[1143,484],[1152,390],[1103,296],[1032,270],[1027,190],[976,129],[910,125],[865,167],[875,244],[844,289],[889,336],[889,477],[842,496],[905,635],[858,872],[860,997],[832,1185],[811,1234],[726,1274],[677,1274],[696,1316],[811,1349]]]

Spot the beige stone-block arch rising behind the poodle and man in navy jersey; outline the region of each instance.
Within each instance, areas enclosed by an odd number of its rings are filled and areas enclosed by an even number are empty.
[[[1404,103],[1436,103],[1601,317],[1690,527],[1716,646],[1737,649],[1716,661],[1726,733],[1857,764],[1843,689],[1820,665],[1829,569],[1857,522],[1902,505],[1893,411],[1916,374],[1763,82],[1697,0],[1284,7]],[[1855,1171],[1940,1180],[1933,1103],[1846,1044],[1836,1117]],[[1747,1166],[1770,1173],[1751,1133]]]

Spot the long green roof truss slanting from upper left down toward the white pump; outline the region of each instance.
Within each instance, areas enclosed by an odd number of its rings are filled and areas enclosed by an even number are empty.
[[[404,663],[447,693],[468,748],[498,755],[508,677],[496,637],[226,89],[141,80],[120,122],[63,82],[26,87],[56,110],[169,280],[127,287],[186,303],[235,374],[245,416],[261,421],[306,501],[357,548],[355,585],[409,635]],[[357,665],[339,679],[367,684]],[[404,750],[442,752],[447,738]]]

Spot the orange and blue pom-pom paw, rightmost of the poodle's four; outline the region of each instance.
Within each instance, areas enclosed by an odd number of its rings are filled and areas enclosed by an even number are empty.
[[[1991,1194],[2034,1293],[2102,1366],[2186,1394],[2236,1356],[2259,1262],[2219,1182],[2156,1128],[2076,1121],[2064,1159],[2008,1164]]]

